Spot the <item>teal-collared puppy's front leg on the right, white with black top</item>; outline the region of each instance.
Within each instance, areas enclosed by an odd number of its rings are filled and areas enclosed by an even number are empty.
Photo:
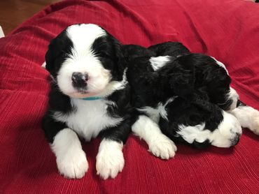
[[[130,119],[104,130],[97,154],[96,169],[103,179],[115,178],[124,167],[123,144],[130,135]]]

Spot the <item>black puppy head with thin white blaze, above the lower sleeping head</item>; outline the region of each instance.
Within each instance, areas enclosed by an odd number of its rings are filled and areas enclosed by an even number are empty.
[[[230,87],[231,79],[224,64],[204,54],[188,54],[179,57],[178,61],[181,66],[195,67],[195,89],[206,92],[211,103],[223,110],[237,107],[239,96]]]

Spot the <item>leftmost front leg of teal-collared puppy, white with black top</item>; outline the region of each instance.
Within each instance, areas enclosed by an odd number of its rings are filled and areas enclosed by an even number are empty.
[[[43,130],[56,156],[59,173],[69,179],[80,179],[88,169],[85,152],[76,133],[51,117],[43,119]]]

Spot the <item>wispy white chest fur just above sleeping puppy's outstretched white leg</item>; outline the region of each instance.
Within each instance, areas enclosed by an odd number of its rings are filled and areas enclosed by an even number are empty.
[[[167,111],[165,110],[165,107],[167,106],[168,103],[171,103],[176,97],[169,98],[167,102],[163,105],[162,103],[158,103],[158,106],[153,108],[153,107],[141,107],[138,108],[139,111],[145,112],[148,114],[148,117],[150,117],[153,121],[155,121],[156,124],[158,124],[160,120],[160,116],[163,119],[167,119]]]

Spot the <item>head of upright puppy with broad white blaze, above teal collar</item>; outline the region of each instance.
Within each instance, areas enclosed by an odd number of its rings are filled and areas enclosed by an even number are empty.
[[[109,94],[125,70],[120,43],[95,24],[74,24],[59,33],[45,61],[59,89],[73,98]]]

